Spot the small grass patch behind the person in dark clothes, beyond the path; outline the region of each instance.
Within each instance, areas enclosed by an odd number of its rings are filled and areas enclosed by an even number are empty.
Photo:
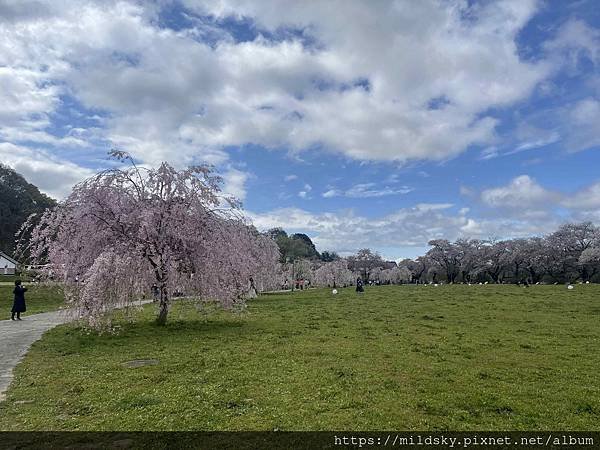
[[[61,290],[56,286],[36,285],[33,283],[24,283],[24,285],[27,287],[27,292],[25,293],[27,312],[23,314],[23,317],[41,312],[56,311],[63,306],[64,297]],[[14,284],[0,285],[0,308],[2,309],[0,320],[10,319],[14,288]]]

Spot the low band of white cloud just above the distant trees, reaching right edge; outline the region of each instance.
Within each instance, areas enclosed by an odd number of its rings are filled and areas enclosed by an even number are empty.
[[[546,189],[522,175],[505,186],[479,193],[469,189],[466,194],[468,198],[481,199],[487,209],[419,203],[375,217],[359,215],[354,210],[311,213],[299,208],[249,215],[262,230],[282,227],[289,232],[306,233],[319,250],[346,255],[370,247],[392,258],[413,256],[417,250],[426,249],[431,239],[540,236],[565,221],[600,220],[600,182],[566,194]],[[557,208],[562,210],[557,212]]]

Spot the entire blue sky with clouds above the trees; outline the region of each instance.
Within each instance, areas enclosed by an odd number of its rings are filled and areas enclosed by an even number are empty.
[[[388,259],[600,224],[600,8],[0,0],[0,162],[62,199],[208,163],[261,230]]]

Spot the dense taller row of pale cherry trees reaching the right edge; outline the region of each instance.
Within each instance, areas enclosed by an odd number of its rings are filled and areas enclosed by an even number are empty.
[[[433,240],[425,256],[404,260],[413,280],[448,282],[592,281],[600,272],[600,228],[568,223],[545,237]]]

